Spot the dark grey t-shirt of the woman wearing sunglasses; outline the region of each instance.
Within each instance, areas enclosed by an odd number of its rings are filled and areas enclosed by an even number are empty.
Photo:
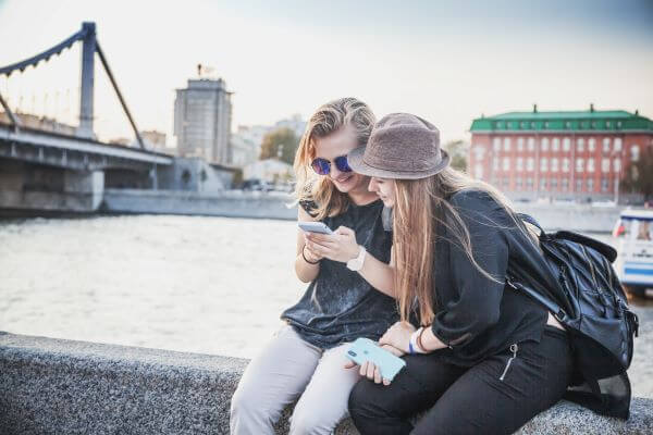
[[[301,202],[307,212],[310,203]],[[344,213],[325,217],[331,229],[347,226],[356,241],[384,263],[390,262],[392,233],[384,229],[383,202],[349,204]],[[345,263],[323,259],[320,273],[301,299],[281,314],[306,341],[322,349],[353,341],[358,337],[378,340],[399,315],[393,298],[374,289]]]

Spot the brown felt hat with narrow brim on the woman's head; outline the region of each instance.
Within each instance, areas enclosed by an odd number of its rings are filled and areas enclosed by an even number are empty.
[[[433,124],[410,113],[391,113],[374,125],[366,147],[347,154],[347,162],[364,175],[418,179],[441,172],[449,157],[440,149]]]

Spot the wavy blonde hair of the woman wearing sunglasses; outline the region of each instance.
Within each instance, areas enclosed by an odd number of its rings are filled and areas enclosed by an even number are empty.
[[[347,210],[349,197],[335,188],[328,176],[319,176],[310,167],[316,158],[316,139],[335,133],[344,126],[356,132],[358,146],[367,145],[377,122],[372,110],[356,98],[341,98],[321,105],[308,121],[295,153],[295,198],[315,203],[315,217],[322,220]]]

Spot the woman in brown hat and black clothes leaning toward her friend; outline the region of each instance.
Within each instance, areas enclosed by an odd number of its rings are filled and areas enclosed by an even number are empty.
[[[438,129],[410,114],[383,117],[348,158],[393,210],[402,321],[380,344],[407,363],[392,383],[360,368],[349,412],[361,434],[509,434],[558,401],[566,332],[505,284],[510,268],[554,277],[504,197],[451,169]]]

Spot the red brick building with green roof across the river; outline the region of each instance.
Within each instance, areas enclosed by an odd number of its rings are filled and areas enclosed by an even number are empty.
[[[605,200],[644,149],[653,121],[638,111],[510,112],[471,124],[470,175],[513,199]]]

